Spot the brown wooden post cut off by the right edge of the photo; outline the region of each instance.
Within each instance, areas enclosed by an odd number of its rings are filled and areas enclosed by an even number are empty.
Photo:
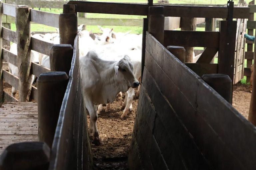
[[[256,33],[256,30],[255,30]],[[256,41],[254,41],[254,44]],[[249,109],[249,117],[248,120],[256,126],[256,46],[254,45],[254,56],[253,56],[253,81],[252,81],[252,96],[251,96],[251,103]]]

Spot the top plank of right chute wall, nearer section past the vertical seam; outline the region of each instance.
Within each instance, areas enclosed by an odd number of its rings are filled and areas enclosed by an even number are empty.
[[[204,117],[228,149],[238,158],[244,167],[242,169],[254,169],[256,128],[215,90],[204,81],[199,81],[198,114]]]

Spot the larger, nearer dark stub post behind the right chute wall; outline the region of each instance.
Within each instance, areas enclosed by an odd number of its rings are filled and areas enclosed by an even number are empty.
[[[232,104],[232,80],[224,74],[207,74],[202,79]]]

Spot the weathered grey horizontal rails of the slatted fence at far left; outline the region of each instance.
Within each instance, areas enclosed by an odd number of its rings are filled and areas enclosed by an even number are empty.
[[[15,5],[2,3],[2,11],[3,11],[3,14],[5,14],[5,15],[17,17],[16,16],[17,15],[16,8],[17,8],[17,6],[15,6]],[[51,14],[51,13],[37,11],[37,10],[33,10],[33,9],[30,9],[30,14],[31,14],[31,19],[30,19],[31,22],[36,22],[36,23],[45,24],[45,25],[49,25],[49,26],[58,26],[56,24],[56,23],[58,23],[58,22],[56,22],[56,20],[54,20],[54,21],[51,20],[52,18],[55,18],[58,21],[57,14]],[[40,18],[40,20],[38,20],[37,17]],[[49,22],[47,22],[47,20]],[[17,21],[17,22],[20,22],[20,21]],[[30,25],[30,22],[27,22],[27,24]],[[28,28],[29,28],[29,30],[27,30]],[[29,32],[29,34],[30,34],[30,26],[26,27],[26,32]],[[8,28],[2,27],[2,39],[3,40],[7,40],[7,41],[17,44],[17,42],[20,42],[20,40],[17,40],[17,36],[18,36],[18,34],[16,31],[12,31]],[[49,56],[49,51],[53,44],[31,37],[29,45],[31,46],[31,50],[34,50],[34,51],[37,51],[39,53]],[[30,49],[28,49],[28,51],[26,53],[30,54]],[[24,52],[25,52],[25,50],[24,50]],[[18,67],[17,55],[11,53],[9,50],[4,49],[4,48],[2,48],[2,54],[3,54],[3,60],[8,61],[11,64],[13,64],[14,66]],[[30,57],[29,57],[29,59],[30,59]],[[39,64],[34,63],[34,62],[31,62],[31,65],[29,64],[29,65],[27,65],[27,67],[28,67],[27,68],[28,70],[31,70],[30,75],[34,75],[36,77],[39,77],[39,75],[41,73],[50,71],[49,69],[42,67]],[[10,72],[8,72],[6,70],[3,70],[2,72],[3,72],[3,74],[2,74],[2,79],[0,80],[0,86],[3,86],[3,80],[4,80],[6,83],[15,87],[16,89],[21,88],[20,85],[22,85],[23,83],[20,82],[21,80],[18,77],[14,76],[13,74],[11,74]],[[34,99],[35,101],[37,101],[37,88],[35,86],[32,86],[32,88],[30,90],[31,90],[30,99]],[[27,95],[29,93],[30,92],[27,91]],[[13,96],[11,96],[10,94],[8,94],[5,91],[3,91],[3,93],[1,93],[0,96],[1,96],[1,99],[0,99],[1,102],[3,102],[3,101],[17,102],[18,101],[18,99],[14,98]]]

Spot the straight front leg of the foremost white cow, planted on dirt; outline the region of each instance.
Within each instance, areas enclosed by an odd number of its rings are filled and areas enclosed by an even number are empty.
[[[88,109],[88,111],[90,113],[90,126],[89,126],[90,136],[92,137],[93,143],[98,146],[98,145],[101,145],[99,131],[97,129],[98,114],[97,114],[95,106],[90,101],[90,99],[85,98],[85,102],[86,102],[85,103],[86,108]]]

